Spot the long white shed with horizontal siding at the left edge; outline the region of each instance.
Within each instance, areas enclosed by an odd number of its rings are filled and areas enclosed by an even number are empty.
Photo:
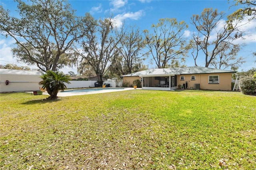
[[[40,91],[40,71],[0,69],[0,93],[14,91]]]

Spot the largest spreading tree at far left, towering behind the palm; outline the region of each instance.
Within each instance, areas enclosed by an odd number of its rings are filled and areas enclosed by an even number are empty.
[[[42,71],[56,71],[70,63],[65,54],[87,34],[90,15],[77,17],[66,0],[17,0],[19,18],[0,6],[0,32],[12,37],[18,61],[35,64]]]

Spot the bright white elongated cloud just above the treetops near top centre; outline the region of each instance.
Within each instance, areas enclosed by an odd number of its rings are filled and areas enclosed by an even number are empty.
[[[116,22],[116,26],[120,28],[122,26],[122,21],[125,19],[138,20],[141,16],[144,15],[143,10],[139,10],[137,12],[128,12],[123,14],[118,14],[113,19]]]

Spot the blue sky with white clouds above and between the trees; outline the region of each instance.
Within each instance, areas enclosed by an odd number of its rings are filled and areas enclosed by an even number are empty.
[[[16,3],[12,0],[1,0],[1,5],[4,9],[10,10],[14,16],[17,15]],[[94,18],[104,18],[110,15],[116,19],[116,23],[120,26],[124,21],[126,25],[136,25],[141,30],[150,30],[152,24],[157,24],[160,18],[176,18],[178,21],[184,20],[188,24],[188,29],[184,32],[184,36],[189,40],[192,38],[192,34],[195,31],[194,26],[190,24],[193,14],[200,14],[204,8],[218,9],[218,11],[224,11],[227,15],[234,12],[238,7],[231,7],[232,0],[69,0],[72,8],[76,10],[78,16],[84,16],[86,12],[89,12]],[[223,21],[224,23],[225,21]],[[247,33],[245,40],[236,40],[236,43],[245,43],[245,46],[238,53],[238,57],[245,58],[246,63],[242,64],[238,71],[242,69],[247,71],[252,67],[256,67],[255,57],[252,53],[256,51],[256,21],[250,22],[242,27]],[[16,63],[16,59],[12,57],[10,49],[13,40],[1,36],[0,40],[0,63],[5,65],[6,63]],[[192,55],[188,53],[186,59],[187,66],[194,66]],[[25,66],[22,63],[16,63],[20,66]],[[156,65],[150,64],[149,59],[145,61],[145,65],[149,65],[149,68],[154,68]],[[198,65],[204,66],[204,58],[198,61]],[[33,67],[30,66],[29,67]],[[33,67],[36,68],[36,67]],[[64,73],[68,71],[74,71],[76,68],[62,69]]]

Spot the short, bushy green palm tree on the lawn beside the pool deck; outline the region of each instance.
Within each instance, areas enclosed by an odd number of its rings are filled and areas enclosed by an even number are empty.
[[[47,93],[50,95],[48,100],[57,99],[57,94],[59,90],[64,91],[66,85],[64,83],[70,84],[70,76],[64,75],[60,72],[54,72],[51,70],[46,71],[46,74],[40,76],[42,81],[39,82],[39,85],[42,85],[42,88],[46,88]]]

